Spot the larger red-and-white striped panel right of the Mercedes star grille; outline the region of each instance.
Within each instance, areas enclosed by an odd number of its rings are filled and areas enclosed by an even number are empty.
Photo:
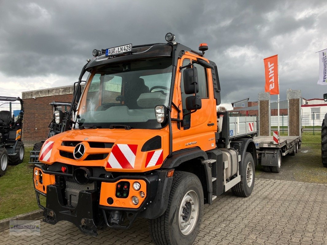
[[[137,145],[116,144],[109,155],[107,168],[133,169]]]

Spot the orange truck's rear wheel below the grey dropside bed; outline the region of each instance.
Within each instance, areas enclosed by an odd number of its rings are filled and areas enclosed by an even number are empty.
[[[232,193],[239,197],[249,197],[254,187],[255,175],[254,161],[250,152],[245,154],[242,168],[245,176],[241,175],[241,182],[232,187]]]

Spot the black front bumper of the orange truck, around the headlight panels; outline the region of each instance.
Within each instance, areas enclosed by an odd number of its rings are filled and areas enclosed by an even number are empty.
[[[36,164],[35,167],[41,168],[43,175],[53,174],[41,164]],[[142,176],[122,175],[114,179],[95,178],[97,179],[95,189],[80,190],[75,206],[69,205],[69,202],[65,200],[65,185],[60,182],[60,179],[70,178],[67,174],[60,176],[57,172],[55,183],[47,185],[45,193],[40,191],[40,188],[35,188],[35,185],[34,188],[38,205],[43,209],[44,222],[56,224],[59,221],[69,221],[75,224],[82,233],[96,236],[96,231],[105,224],[111,228],[128,229],[138,216],[154,219],[162,215],[167,208],[172,182],[172,177],[166,177],[167,171],[153,171],[151,174]],[[118,183],[123,179],[146,182],[146,197],[143,203],[137,208],[100,205],[101,185]],[[45,207],[40,203],[40,195],[46,197]]]

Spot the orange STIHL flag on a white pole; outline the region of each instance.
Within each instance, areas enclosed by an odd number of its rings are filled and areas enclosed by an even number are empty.
[[[266,85],[265,92],[270,94],[279,94],[278,85],[278,55],[264,59]]]

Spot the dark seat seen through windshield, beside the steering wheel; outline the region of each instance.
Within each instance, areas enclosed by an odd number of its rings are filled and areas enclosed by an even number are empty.
[[[145,85],[143,78],[133,79],[132,82],[129,83],[129,86],[126,90],[126,95],[124,96],[125,104],[129,109],[140,109],[142,107],[137,105],[137,99],[140,97],[142,93],[149,93],[149,88]]]

